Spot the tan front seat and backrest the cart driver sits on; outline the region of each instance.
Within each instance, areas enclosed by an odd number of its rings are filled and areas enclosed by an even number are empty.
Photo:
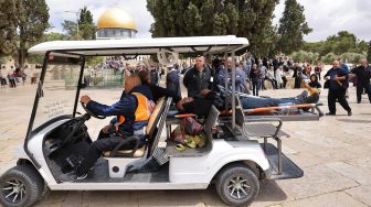
[[[148,120],[148,124],[146,127],[146,140],[150,140],[153,138],[153,133],[155,133],[155,129],[156,129],[156,123],[159,121],[161,115],[162,115],[162,110],[165,108],[166,101],[165,101],[165,97],[160,98],[160,100],[158,101],[158,103],[156,105],[156,108],[152,112],[152,115],[150,116],[149,120]],[[123,142],[125,142],[125,139],[123,139]],[[123,143],[121,142],[121,143]],[[120,144],[118,144],[113,151],[106,151],[103,153],[103,156],[105,157],[117,157],[117,156],[121,156],[121,157],[141,157],[146,150],[147,150],[147,145],[142,145],[141,148],[138,149],[134,149],[134,150],[119,150]]]

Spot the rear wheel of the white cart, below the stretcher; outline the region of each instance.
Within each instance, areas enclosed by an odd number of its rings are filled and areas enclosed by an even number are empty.
[[[219,173],[215,187],[224,203],[231,206],[246,206],[257,196],[259,183],[248,166],[233,164]]]

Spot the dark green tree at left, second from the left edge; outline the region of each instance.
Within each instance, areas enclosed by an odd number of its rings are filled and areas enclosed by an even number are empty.
[[[22,11],[20,14],[19,33],[20,46],[18,54],[18,62],[20,66],[24,65],[26,58],[26,51],[38,43],[46,29],[50,26],[49,8],[45,0],[20,0]]]

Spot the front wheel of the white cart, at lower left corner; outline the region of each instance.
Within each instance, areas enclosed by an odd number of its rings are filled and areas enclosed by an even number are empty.
[[[14,166],[0,177],[0,204],[9,207],[32,206],[42,188],[43,179],[32,166]]]

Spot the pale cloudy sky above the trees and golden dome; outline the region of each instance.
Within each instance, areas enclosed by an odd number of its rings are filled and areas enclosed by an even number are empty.
[[[360,40],[371,40],[371,1],[370,0],[297,0],[305,8],[305,15],[311,33],[304,37],[308,42],[326,40],[329,35],[347,30]],[[280,0],[274,12],[274,24],[278,23],[285,9],[285,0]],[[147,11],[146,0],[46,0],[50,8],[50,23],[54,26],[51,31],[64,32],[61,23],[63,20],[76,20],[73,12],[84,6],[92,11],[94,21],[107,9],[114,6],[124,8],[136,20],[137,37],[150,37],[150,24],[153,18]],[[73,11],[73,12],[65,12]]]

